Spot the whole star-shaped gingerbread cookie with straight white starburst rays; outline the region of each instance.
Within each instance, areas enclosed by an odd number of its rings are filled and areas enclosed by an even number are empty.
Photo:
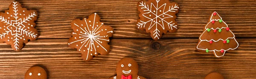
[[[92,14],[88,19],[73,20],[71,22],[73,37],[68,40],[70,48],[77,48],[84,61],[90,61],[94,56],[107,55],[110,51],[109,37],[113,35],[113,28],[100,22],[98,14]]]

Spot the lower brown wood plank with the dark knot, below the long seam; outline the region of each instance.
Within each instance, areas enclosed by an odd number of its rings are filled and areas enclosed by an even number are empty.
[[[33,65],[44,67],[49,79],[107,79],[115,75],[116,63],[123,57],[134,58],[139,75],[147,79],[203,79],[213,71],[226,79],[255,79],[255,40],[238,39],[238,49],[217,58],[196,51],[198,39],[113,39],[110,54],[90,62],[69,48],[67,39],[31,41],[21,52],[1,43],[0,79],[23,79]]]

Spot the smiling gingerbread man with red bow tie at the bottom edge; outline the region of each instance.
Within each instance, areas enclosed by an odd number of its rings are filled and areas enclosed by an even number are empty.
[[[116,65],[116,74],[109,79],[146,79],[138,76],[139,66],[134,59],[122,58]]]

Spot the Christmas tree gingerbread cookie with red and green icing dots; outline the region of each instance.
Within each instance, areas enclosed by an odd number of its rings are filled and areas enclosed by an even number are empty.
[[[217,12],[213,12],[200,35],[197,50],[212,52],[216,57],[224,56],[226,51],[238,48],[235,35]]]

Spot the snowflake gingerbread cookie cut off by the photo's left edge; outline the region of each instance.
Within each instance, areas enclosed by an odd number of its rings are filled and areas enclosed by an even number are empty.
[[[28,40],[36,40],[38,31],[34,22],[37,16],[35,10],[27,10],[19,2],[12,2],[9,10],[0,13],[0,42],[6,42],[15,51],[20,51]]]

